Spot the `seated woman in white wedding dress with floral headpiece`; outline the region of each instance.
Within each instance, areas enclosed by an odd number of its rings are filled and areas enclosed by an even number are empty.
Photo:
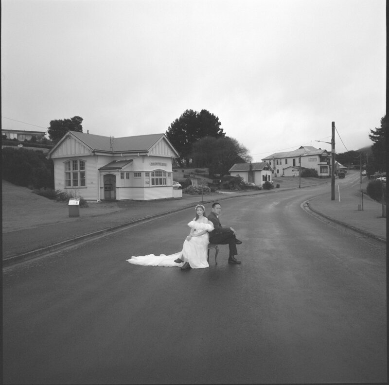
[[[185,238],[181,251],[170,255],[161,254],[156,256],[154,254],[148,254],[139,257],[133,256],[126,261],[143,266],[177,266],[181,267],[181,269],[188,267],[194,269],[209,267],[207,261],[208,232],[213,230],[213,224],[205,216],[205,207],[203,205],[197,205],[195,210],[196,217],[188,223],[191,231]]]

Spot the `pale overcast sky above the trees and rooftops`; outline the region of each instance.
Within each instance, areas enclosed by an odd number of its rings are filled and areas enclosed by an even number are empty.
[[[3,128],[43,131],[78,115],[84,132],[118,138],[206,109],[261,161],[330,150],[316,140],[331,141],[331,122],[336,152],[357,150],[385,115],[385,0],[1,6]]]

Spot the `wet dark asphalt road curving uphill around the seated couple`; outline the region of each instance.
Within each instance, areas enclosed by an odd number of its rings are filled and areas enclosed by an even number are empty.
[[[386,382],[385,245],[302,210],[317,193],[223,201],[241,265],[125,261],[179,251],[185,210],[5,269],[4,384]]]

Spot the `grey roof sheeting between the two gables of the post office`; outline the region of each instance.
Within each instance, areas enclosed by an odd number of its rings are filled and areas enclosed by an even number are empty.
[[[112,151],[110,137],[75,131],[71,131],[71,134],[94,151]],[[148,151],[163,136],[164,134],[150,134],[124,138],[113,138],[113,151]]]

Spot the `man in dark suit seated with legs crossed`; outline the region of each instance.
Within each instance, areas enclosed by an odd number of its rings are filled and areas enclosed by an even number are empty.
[[[232,227],[223,227],[219,221],[219,214],[222,210],[220,203],[215,202],[212,204],[211,213],[208,215],[208,220],[212,222],[214,230],[210,234],[210,243],[218,245],[229,245],[230,248],[230,257],[228,259],[229,263],[239,264],[242,263],[235,258],[235,255],[238,254],[236,245],[240,245],[242,241],[236,239],[235,230]]]

